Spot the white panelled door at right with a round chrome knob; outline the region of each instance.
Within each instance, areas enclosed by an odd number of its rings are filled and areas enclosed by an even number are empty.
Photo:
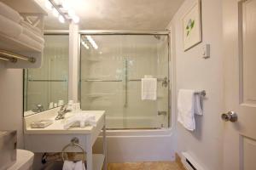
[[[256,0],[223,2],[224,170],[256,170]]]

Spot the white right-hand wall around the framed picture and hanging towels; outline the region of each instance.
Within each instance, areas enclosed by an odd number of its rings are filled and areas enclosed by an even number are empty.
[[[224,108],[224,76],[222,42],[222,1],[202,0],[203,41],[183,52],[182,18],[195,0],[186,0],[175,14],[172,29],[172,50],[176,66],[176,93],[180,88],[205,89],[204,115],[196,116],[196,130],[189,132],[177,123],[177,152],[188,151],[205,169],[222,169],[222,122]],[[211,58],[203,59],[203,44],[211,44]],[[176,105],[176,99],[172,105]],[[176,110],[177,112],[177,110]]]

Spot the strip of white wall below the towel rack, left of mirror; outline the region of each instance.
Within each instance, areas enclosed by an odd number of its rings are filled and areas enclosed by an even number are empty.
[[[22,70],[0,63],[0,130],[18,130],[18,148],[23,148],[22,88]]]

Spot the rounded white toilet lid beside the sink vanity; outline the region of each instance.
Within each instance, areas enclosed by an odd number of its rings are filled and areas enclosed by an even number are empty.
[[[27,170],[32,166],[34,154],[28,150],[17,150],[17,161],[7,170]]]

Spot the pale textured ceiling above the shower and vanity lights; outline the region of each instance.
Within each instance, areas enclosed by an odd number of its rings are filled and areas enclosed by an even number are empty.
[[[44,1],[35,0],[47,12],[45,29],[67,29]],[[56,0],[61,2],[61,0]],[[165,30],[184,0],[68,0],[80,17],[81,30]]]

